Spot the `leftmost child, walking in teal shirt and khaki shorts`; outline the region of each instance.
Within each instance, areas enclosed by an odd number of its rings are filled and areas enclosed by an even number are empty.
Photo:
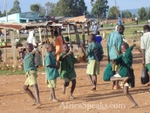
[[[41,106],[40,98],[39,98],[39,89],[37,85],[37,70],[34,64],[34,57],[33,57],[33,45],[27,43],[26,45],[26,55],[23,60],[23,67],[24,71],[26,73],[26,81],[24,83],[24,90],[26,93],[33,99],[34,103],[33,105],[36,105],[36,108],[39,108]],[[35,96],[29,89],[29,87],[32,86],[33,90],[35,92]]]

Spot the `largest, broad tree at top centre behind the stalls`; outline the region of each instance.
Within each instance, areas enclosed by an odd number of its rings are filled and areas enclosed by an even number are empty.
[[[80,16],[86,13],[87,7],[84,0],[59,0],[56,4],[57,16]]]

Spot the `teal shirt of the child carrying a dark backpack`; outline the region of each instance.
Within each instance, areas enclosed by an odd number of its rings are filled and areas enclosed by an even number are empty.
[[[86,56],[88,57],[88,60],[96,60],[94,56],[94,50],[100,48],[101,53],[103,54],[103,47],[101,44],[98,44],[96,42],[91,42],[88,45],[88,48],[86,50]]]

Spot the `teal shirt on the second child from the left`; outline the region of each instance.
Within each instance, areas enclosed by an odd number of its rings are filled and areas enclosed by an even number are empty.
[[[46,78],[47,80],[54,80],[59,77],[58,69],[49,67],[50,65],[56,65],[56,59],[52,53],[47,52],[44,59],[46,66]]]

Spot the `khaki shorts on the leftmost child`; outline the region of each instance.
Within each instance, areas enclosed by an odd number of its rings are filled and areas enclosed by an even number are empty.
[[[26,81],[24,85],[29,85],[32,86],[34,84],[37,84],[37,71],[35,70],[30,70],[26,72]]]

